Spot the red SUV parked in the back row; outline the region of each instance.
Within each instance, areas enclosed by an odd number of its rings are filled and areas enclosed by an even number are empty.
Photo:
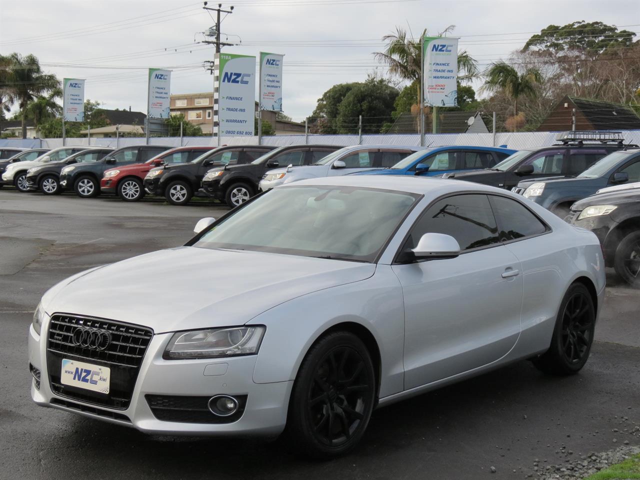
[[[145,163],[111,168],[100,180],[102,193],[115,193],[125,202],[136,202],[145,196],[143,180],[152,168],[163,164],[187,163],[217,147],[178,147],[166,150]]]

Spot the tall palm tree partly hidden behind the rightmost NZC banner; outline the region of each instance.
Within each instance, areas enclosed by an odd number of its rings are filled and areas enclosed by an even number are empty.
[[[454,29],[454,25],[450,25],[444,29],[438,36],[445,35]],[[422,58],[422,38],[427,36],[427,29],[422,31],[418,38],[407,35],[407,32],[396,27],[396,33],[391,33],[382,37],[386,42],[384,52],[374,52],[376,60],[386,63],[389,73],[392,76],[399,77],[403,80],[413,83],[418,81],[418,103],[420,103],[420,59]],[[477,68],[477,61],[468,54],[466,50],[458,53],[458,81],[469,81],[479,76],[480,72]]]

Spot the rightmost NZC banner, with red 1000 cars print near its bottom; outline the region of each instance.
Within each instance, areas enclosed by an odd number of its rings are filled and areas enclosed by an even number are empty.
[[[436,107],[458,106],[458,38],[425,36],[424,103]]]

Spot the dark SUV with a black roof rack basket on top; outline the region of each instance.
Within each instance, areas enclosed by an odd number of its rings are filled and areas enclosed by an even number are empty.
[[[493,168],[442,175],[445,179],[467,180],[511,189],[520,180],[541,177],[570,177],[611,152],[624,148],[620,132],[566,132],[551,147],[518,150]]]

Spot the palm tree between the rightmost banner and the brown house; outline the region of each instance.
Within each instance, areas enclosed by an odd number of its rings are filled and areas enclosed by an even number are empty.
[[[518,115],[518,99],[523,96],[535,97],[536,86],[542,82],[542,74],[537,68],[527,68],[522,74],[504,61],[492,63],[484,72],[486,81],[481,87],[484,92],[502,91],[513,101],[513,116]]]

